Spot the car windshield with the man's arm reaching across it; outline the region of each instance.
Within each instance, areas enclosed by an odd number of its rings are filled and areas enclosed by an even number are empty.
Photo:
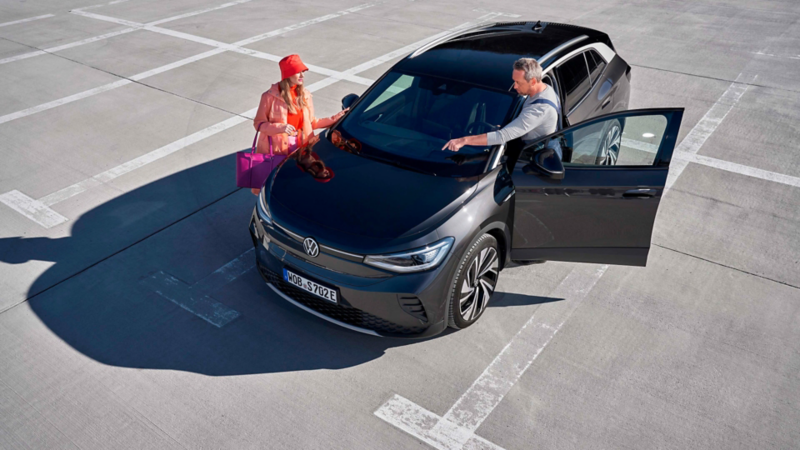
[[[412,170],[448,177],[483,173],[489,146],[442,150],[450,139],[499,129],[516,94],[443,78],[391,72],[337,128],[359,152]],[[458,156],[456,156],[458,155]]]

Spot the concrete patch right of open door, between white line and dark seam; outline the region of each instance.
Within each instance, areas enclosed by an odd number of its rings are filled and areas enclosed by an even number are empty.
[[[690,164],[659,207],[653,243],[800,286],[800,190]]]

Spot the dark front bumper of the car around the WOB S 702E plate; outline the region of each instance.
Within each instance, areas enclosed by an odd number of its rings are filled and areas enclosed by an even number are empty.
[[[250,235],[259,273],[269,287],[295,306],[322,319],[365,334],[422,338],[447,328],[446,297],[450,257],[437,269],[393,274],[365,267],[354,258],[320,255],[304,258],[297,236],[266,225],[253,211]],[[324,262],[328,267],[322,267]],[[318,298],[283,279],[287,268],[339,290],[338,303]]]

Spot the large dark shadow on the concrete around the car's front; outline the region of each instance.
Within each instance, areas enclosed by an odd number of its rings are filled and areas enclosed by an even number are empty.
[[[339,369],[419,342],[329,324],[285,302],[254,269],[213,293],[239,312],[221,328],[145,289],[150,266],[180,279],[195,259],[219,267],[252,248],[255,197],[233,174],[233,156],[181,171],[86,212],[69,237],[0,239],[0,260],[53,262],[28,290],[30,309],[64,342],[114,366],[211,376]],[[554,300],[498,292],[490,307]]]

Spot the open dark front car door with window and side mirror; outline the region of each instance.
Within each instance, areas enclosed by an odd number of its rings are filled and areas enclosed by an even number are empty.
[[[609,114],[509,154],[511,259],[644,266],[682,117]]]

